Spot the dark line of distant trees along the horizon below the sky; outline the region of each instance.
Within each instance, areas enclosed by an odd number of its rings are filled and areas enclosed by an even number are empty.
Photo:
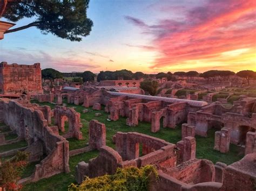
[[[133,73],[130,70],[122,69],[116,71],[101,71],[97,75],[97,81],[101,80],[139,80],[139,79],[161,79],[162,77],[167,77],[167,80],[177,80],[177,78],[181,77],[182,79],[185,77],[193,78],[193,77],[204,77],[205,79],[210,79],[212,77],[218,78],[220,81],[228,80],[230,76],[237,75],[247,80],[249,83],[250,79],[256,79],[256,72],[252,70],[241,70],[237,74],[230,70],[208,70],[204,73],[198,73],[197,71],[189,71],[189,72],[160,72],[158,74],[144,74],[143,72]],[[90,71],[85,71],[83,73],[60,73],[55,69],[46,68],[42,70],[42,77],[44,79],[56,79],[62,77],[80,77],[84,82],[86,81],[94,81],[96,75]]]

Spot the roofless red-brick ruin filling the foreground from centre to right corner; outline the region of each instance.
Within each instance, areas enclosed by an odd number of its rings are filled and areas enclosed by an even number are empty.
[[[94,139],[105,132],[94,134]],[[103,140],[103,139],[100,139]],[[154,165],[158,182],[150,182],[149,190],[254,190],[256,153],[227,166],[221,162],[196,158],[196,139],[184,137],[177,144],[137,132],[117,132],[113,136],[116,150],[101,144],[96,158],[79,162],[76,180],[114,174],[118,167]],[[140,145],[142,147],[140,147]],[[142,154],[140,153],[142,148]]]

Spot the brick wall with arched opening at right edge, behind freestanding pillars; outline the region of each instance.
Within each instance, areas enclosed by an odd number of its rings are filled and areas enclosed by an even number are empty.
[[[245,144],[246,133],[256,129],[256,113],[252,111],[255,98],[246,98],[225,108],[221,103],[215,102],[206,105],[197,112],[189,112],[187,123],[196,126],[196,135],[207,136],[208,129],[230,129],[230,142],[233,144]],[[218,136],[217,136],[218,137]]]

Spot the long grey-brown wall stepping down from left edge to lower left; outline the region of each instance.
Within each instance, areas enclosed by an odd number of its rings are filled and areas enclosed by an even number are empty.
[[[27,151],[31,153],[30,159],[33,161],[46,155],[26,180],[38,181],[58,173],[69,172],[69,142],[52,132],[41,110],[24,107],[8,99],[0,100],[0,105],[2,121],[9,125],[19,138],[29,143]]]

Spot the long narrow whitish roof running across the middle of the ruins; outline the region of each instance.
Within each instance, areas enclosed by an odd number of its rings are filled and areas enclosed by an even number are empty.
[[[111,95],[116,96],[127,96],[127,97],[133,97],[133,98],[142,98],[145,100],[154,100],[154,101],[164,101],[164,102],[170,102],[170,103],[178,103],[178,102],[186,102],[190,105],[197,106],[197,107],[203,107],[204,105],[207,105],[207,102],[204,101],[196,101],[196,100],[184,100],[179,98],[170,98],[170,97],[159,97],[159,96],[149,96],[149,95],[140,95],[140,94],[127,94],[127,93],[120,93],[120,92],[113,92],[108,91]]]

